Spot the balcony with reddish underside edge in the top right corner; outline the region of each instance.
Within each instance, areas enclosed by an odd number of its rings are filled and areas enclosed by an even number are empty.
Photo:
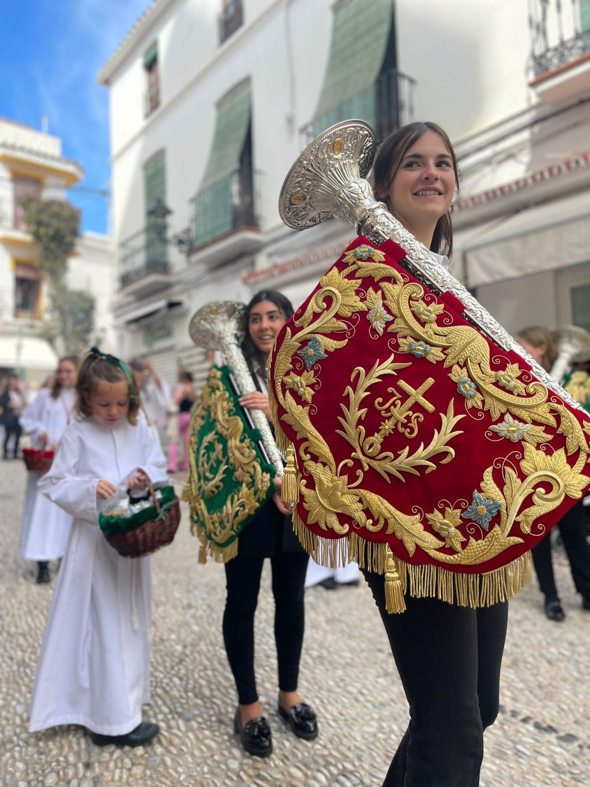
[[[579,0],[532,0],[531,82],[540,101],[558,104],[590,93],[590,9]]]

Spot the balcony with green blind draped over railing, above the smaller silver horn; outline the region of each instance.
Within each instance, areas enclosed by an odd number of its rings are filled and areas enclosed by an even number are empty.
[[[190,201],[192,262],[223,264],[264,245],[256,210],[261,179],[260,171],[242,167],[195,194]]]

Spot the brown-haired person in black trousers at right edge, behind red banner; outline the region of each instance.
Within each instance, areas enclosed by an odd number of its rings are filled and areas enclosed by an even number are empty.
[[[551,371],[558,352],[555,341],[547,328],[538,325],[523,328],[522,331],[518,331],[516,341],[545,371]],[[576,357],[580,361],[581,366],[585,368],[585,372],[582,372],[582,376],[584,377],[585,375],[584,384],[581,384],[580,375],[573,378],[573,374],[566,375],[565,380],[558,380],[557,382],[562,383],[566,391],[590,412],[590,409],[588,409],[588,399],[590,399],[588,397],[588,379],[590,379],[588,362],[590,362],[590,353],[588,350],[582,350],[581,353],[577,353],[577,356],[573,356],[572,361]],[[580,370],[578,369],[577,371]],[[570,511],[559,521],[558,527],[567,559],[570,561],[573,584],[582,597],[582,608],[590,611],[590,545],[587,539],[588,508],[584,507],[583,500],[578,501],[573,508],[570,508]],[[545,615],[547,615],[548,619],[557,622],[564,620],[566,613],[563,611],[561,601],[559,600],[553,573],[551,534],[541,538],[531,552],[540,591],[545,597]]]

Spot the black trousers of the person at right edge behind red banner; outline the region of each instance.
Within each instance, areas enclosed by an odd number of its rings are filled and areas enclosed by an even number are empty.
[[[588,544],[588,509],[578,501],[570,511],[559,520],[559,531],[567,559],[570,561],[573,584],[578,593],[590,601],[590,544]],[[557,598],[553,561],[551,560],[551,538],[547,534],[533,547],[533,563],[541,593]]]

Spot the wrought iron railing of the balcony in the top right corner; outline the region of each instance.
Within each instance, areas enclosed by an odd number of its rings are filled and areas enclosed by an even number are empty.
[[[535,78],[590,52],[590,8],[581,0],[531,0],[529,29]]]

